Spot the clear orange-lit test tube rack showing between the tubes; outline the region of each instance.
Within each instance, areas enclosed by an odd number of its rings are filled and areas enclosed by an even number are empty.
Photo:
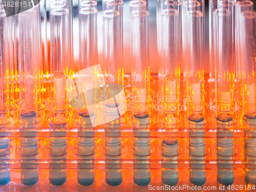
[[[204,155],[204,164],[205,166],[203,169],[206,171],[206,180],[205,184],[200,186],[200,190],[203,191],[203,187],[223,187],[217,181],[217,172],[218,172],[218,164],[220,163],[220,159],[218,159],[218,150],[217,150],[217,137],[218,137],[218,128],[216,124],[216,113],[215,113],[215,93],[214,90],[211,89],[214,84],[212,82],[207,81],[208,76],[205,78],[205,88],[206,88],[206,99],[205,99],[205,127],[203,129],[198,129],[197,131],[201,131],[205,133],[205,155]],[[131,76],[125,75],[124,77],[124,90],[127,100],[127,106],[131,102],[130,92],[131,92]],[[46,80],[47,81],[47,80]],[[47,84],[46,84],[47,85]],[[185,96],[185,81],[181,78],[181,98]],[[38,158],[36,160],[29,160],[29,164],[34,164],[37,166],[39,172],[39,181],[32,185],[26,186],[20,182],[20,169],[21,167],[21,156],[20,155],[20,136],[22,136],[23,131],[17,125],[17,117],[18,112],[11,113],[11,117],[13,118],[10,122],[11,125],[8,129],[2,127],[0,130],[1,136],[8,136],[10,137],[10,159],[8,160],[1,160],[1,167],[8,166],[10,168],[10,176],[11,181],[7,185],[0,186],[2,191],[47,191],[47,190],[64,190],[64,191],[147,191],[149,186],[159,186],[164,187],[161,180],[161,170],[162,170],[162,158],[163,155],[161,153],[161,143],[163,138],[177,138],[178,145],[179,145],[179,154],[177,155],[177,163],[179,167],[179,182],[178,184],[174,185],[181,186],[186,185],[186,187],[195,187],[196,185],[191,184],[189,181],[189,172],[191,170],[190,163],[192,162],[191,158],[189,157],[189,132],[191,129],[188,129],[187,125],[187,117],[186,111],[182,110],[186,109],[185,99],[180,99],[181,103],[181,110],[180,110],[180,122],[176,124],[175,127],[165,126],[161,122],[161,113],[157,111],[157,106],[159,105],[159,98],[158,98],[158,78],[157,75],[151,76],[151,96],[152,96],[152,111],[150,113],[150,126],[149,126],[149,133],[150,133],[150,144],[151,144],[151,154],[149,155],[147,161],[142,162],[142,164],[147,164],[151,170],[151,182],[149,185],[146,186],[138,186],[133,181],[133,174],[134,174],[134,166],[135,166],[135,158],[134,158],[134,146],[133,146],[133,137],[134,133],[136,132],[132,123],[132,112],[127,110],[127,112],[122,116],[122,129],[120,130],[120,137],[121,137],[121,148],[122,152],[119,155],[119,160],[113,162],[113,167],[117,165],[122,172],[122,182],[118,186],[110,186],[105,181],[105,168],[106,168],[106,154],[105,154],[105,127],[98,126],[93,129],[94,137],[95,137],[95,154],[94,158],[87,163],[94,164],[95,170],[95,180],[92,185],[90,186],[81,186],[77,182],[77,170],[78,167],[78,155],[77,155],[77,140],[78,140],[78,132],[79,128],[77,126],[77,112],[74,109],[70,109],[69,111],[69,125],[66,130],[59,130],[59,133],[66,132],[67,138],[67,154],[66,160],[59,161],[57,164],[58,166],[63,166],[67,169],[67,181],[65,184],[61,186],[54,186],[49,183],[49,168],[50,168],[50,156],[49,156],[49,137],[51,135],[51,129],[49,122],[47,120],[49,110],[47,106],[44,110],[39,113],[40,122],[39,126],[36,130],[34,129],[26,129],[26,132],[31,132],[32,134],[36,132],[38,138]],[[244,149],[244,140],[248,139],[248,137],[255,138],[255,135],[250,134],[250,136],[246,136],[246,129],[243,125],[242,119],[242,112],[239,103],[239,93],[235,91],[235,121],[231,126],[231,135],[230,134],[223,134],[220,137],[223,138],[233,138],[233,146],[232,146],[232,154],[228,156],[226,162],[232,164],[231,170],[233,170],[234,174],[234,182],[229,186],[225,185],[225,189],[227,187],[240,187],[242,190],[240,191],[254,191],[252,187],[254,187],[253,183],[248,184],[244,181],[245,172],[251,170],[252,179],[256,177],[255,172],[256,166],[253,164],[254,157],[248,159]],[[155,96],[155,97],[154,97]],[[155,100],[153,99],[155,98]],[[46,98],[46,102],[48,98]],[[225,132],[225,129],[219,129]],[[229,131],[230,131],[229,130]],[[55,130],[56,131],[56,130]],[[227,132],[225,132],[227,133]],[[61,136],[61,134],[60,134]],[[193,137],[193,136],[192,136]],[[200,137],[200,136],[199,136]],[[254,149],[256,150],[256,146]],[[197,160],[196,160],[197,161]],[[194,160],[195,162],[195,160]],[[224,160],[225,162],[225,160]],[[251,164],[248,169],[248,164]],[[255,167],[254,167],[255,166]],[[192,167],[193,169],[193,167]],[[199,168],[201,169],[201,168]],[[170,186],[172,188],[172,186]],[[249,190],[251,188],[251,190]],[[175,189],[175,188],[174,188]],[[176,188],[177,189],[177,188]],[[205,189],[205,188],[204,188]],[[184,190],[189,190],[189,188],[184,188]],[[178,191],[178,190],[176,190]],[[214,190],[211,190],[214,191]]]

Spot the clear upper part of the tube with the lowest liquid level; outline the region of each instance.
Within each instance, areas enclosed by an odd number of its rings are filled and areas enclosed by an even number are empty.
[[[179,115],[180,96],[180,13],[172,2],[165,1],[161,10],[161,92],[163,115]],[[177,6],[177,5],[176,5]],[[178,4],[180,6],[180,4]],[[175,121],[175,120],[174,120]],[[174,122],[176,123],[176,121]]]

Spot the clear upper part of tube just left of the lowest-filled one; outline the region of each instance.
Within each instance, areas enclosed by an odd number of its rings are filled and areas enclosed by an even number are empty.
[[[134,96],[134,116],[143,118],[150,111],[150,68],[148,55],[148,16],[146,2],[131,1],[131,55],[132,89]]]

